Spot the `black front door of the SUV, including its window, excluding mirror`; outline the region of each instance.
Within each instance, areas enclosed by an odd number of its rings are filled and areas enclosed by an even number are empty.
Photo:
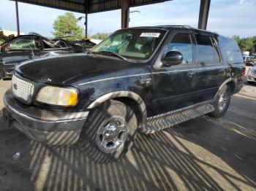
[[[183,61],[175,66],[165,66],[162,59],[170,51],[181,52]],[[176,31],[170,35],[152,67],[154,98],[148,115],[170,112],[197,102],[198,72],[194,52],[195,39],[189,31]]]

